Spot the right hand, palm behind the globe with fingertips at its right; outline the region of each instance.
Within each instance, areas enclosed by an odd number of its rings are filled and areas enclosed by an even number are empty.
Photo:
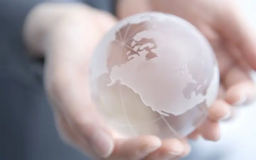
[[[218,140],[218,121],[233,115],[234,107],[255,101],[256,87],[249,75],[256,69],[255,33],[232,0],[120,1],[117,15],[124,18],[146,11],[184,18],[212,45],[219,62],[219,96],[210,107],[208,120],[190,136],[196,138],[201,134],[206,139]]]

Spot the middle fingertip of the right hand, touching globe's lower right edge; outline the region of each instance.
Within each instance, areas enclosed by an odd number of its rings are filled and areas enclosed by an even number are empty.
[[[208,118],[212,121],[219,121],[224,118],[227,119],[231,115],[231,107],[225,101],[218,99],[209,108]]]

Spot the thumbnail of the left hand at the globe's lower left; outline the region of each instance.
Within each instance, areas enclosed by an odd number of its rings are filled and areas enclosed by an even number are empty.
[[[107,158],[113,151],[113,138],[105,132],[97,132],[91,139],[91,146],[95,153],[101,158]]]

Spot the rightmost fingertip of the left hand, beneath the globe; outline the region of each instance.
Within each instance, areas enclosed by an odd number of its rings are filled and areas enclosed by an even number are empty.
[[[171,160],[187,154],[190,146],[184,140],[167,139],[162,142],[161,148],[146,156],[143,160]]]

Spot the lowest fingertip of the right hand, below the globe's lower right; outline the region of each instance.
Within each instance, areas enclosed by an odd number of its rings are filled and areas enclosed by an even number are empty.
[[[199,128],[202,137],[207,140],[217,141],[220,139],[219,123],[207,119]]]

